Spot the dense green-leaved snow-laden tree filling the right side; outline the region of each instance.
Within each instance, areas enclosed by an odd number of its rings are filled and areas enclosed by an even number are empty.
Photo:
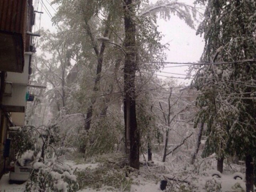
[[[202,92],[197,106],[198,119],[207,123],[206,154],[216,152],[220,160],[226,154],[245,157],[246,191],[253,191],[256,65],[250,59],[256,53],[256,5],[251,0],[197,2],[207,5],[197,32],[204,34],[205,64],[194,80]]]

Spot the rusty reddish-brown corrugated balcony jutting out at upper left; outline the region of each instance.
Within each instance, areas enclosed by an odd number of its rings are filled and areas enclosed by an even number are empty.
[[[0,71],[23,72],[27,10],[27,0],[0,1]]]

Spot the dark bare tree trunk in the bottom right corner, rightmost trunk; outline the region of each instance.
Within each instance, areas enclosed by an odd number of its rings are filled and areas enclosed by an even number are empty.
[[[251,155],[246,155],[245,167],[246,192],[254,192],[254,164]]]

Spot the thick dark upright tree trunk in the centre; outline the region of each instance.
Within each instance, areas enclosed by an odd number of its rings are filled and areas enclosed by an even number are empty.
[[[126,139],[127,163],[134,169],[139,169],[139,131],[137,130],[135,102],[135,23],[131,16],[134,14],[132,0],[124,2],[124,124]]]

